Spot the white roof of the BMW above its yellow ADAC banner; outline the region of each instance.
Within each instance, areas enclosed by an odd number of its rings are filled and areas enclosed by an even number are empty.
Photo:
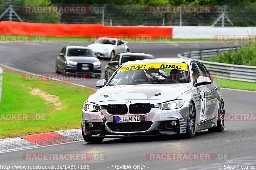
[[[135,60],[128,61],[123,65],[131,65],[131,64],[146,64],[146,63],[190,63],[193,59],[183,59],[183,58],[157,58],[157,59],[145,59],[145,60]],[[193,60],[194,61],[194,60]]]

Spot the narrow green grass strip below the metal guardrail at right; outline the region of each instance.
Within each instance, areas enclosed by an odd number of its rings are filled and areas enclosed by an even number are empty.
[[[214,79],[214,80],[218,83],[220,87],[256,91],[256,83],[227,80],[227,79]]]

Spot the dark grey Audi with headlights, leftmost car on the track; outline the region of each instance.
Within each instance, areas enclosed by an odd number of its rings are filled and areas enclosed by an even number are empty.
[[[101,63],[89,47],[66,46],[57,56],[55,71],[63,75],[89,74],[100,78]]]

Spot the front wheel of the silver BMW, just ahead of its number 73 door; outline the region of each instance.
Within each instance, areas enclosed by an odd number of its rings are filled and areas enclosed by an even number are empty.
[[[188,106],[188,118],[186,127],[186,137],[193,138],[196,134],[196,109],[192,102]]]

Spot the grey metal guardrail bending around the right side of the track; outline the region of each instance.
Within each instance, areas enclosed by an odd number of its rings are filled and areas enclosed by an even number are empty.
[[[240,47],[233,47],[233,50],[240,49]],[[215,78],[225,78],[230,80],[256,82],[256,66],[226,64],[217,62],[208,62],[202,59],[229,51],[230,48],[214,48],[195,50],[179,53],[179,58],[197,59],[210,71]]]

